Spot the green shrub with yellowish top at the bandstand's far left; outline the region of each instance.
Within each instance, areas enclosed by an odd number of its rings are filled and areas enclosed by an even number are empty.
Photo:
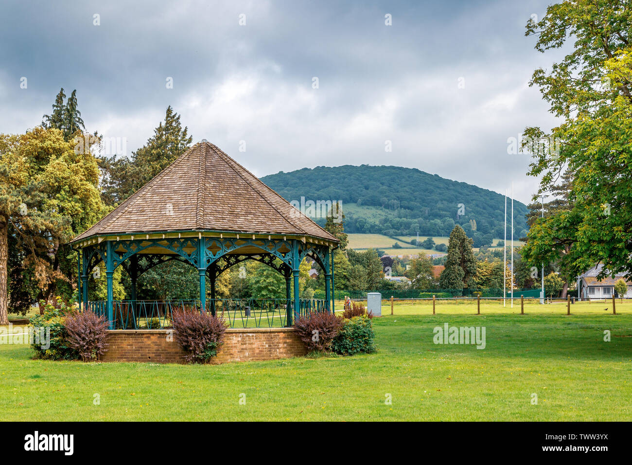
[[[35,357],[49,360],[74,360],[79,358],[78,352],[68,345],[66,332],[66,316],[75,313],[73,307],[62,302],[58,297],[57,305],[40,301],[40,307],[44,307],[44,313],[30,318],[28,326],[35,331],[38,328],[50,328],[51,342],[46,349],[40,344],[31,344],[35,350]]]

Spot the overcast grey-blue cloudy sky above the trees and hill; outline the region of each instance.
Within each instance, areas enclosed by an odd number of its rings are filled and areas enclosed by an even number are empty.
[[[38,125],[63,87],[127,154],[171,105],[194,142],[260,177],[392,164],[501,193],[513,182],[528,202],[537,180],[507,139],[556,124],[528,81],[559,53],[524,35],[549,3],[4,0],[0,132]]]

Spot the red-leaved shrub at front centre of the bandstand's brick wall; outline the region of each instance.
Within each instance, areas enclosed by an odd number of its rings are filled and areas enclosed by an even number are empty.
[[[207,363],[217,356],[226,328],[224,319],[210,312],[188,308],[173,311],[174,336],[189,363]]]

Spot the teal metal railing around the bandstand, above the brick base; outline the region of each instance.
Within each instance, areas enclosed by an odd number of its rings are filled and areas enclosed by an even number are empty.
[[[329,302],[300,299],[300,316],[329,311]],[[87,308],[107,318],[106,301],[90,301]],[[173,312],[202,311],[200,301],[112,301],[114,328],[150,330],[173,327]],[[288,324],[288,311],[294,319],[293,299],[207,299],[206,311],[223,318],[230,328],[283,328]]]

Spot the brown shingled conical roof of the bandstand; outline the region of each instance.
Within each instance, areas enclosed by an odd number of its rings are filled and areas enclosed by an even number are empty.
[[[301,235],[339,242],[219,148],[202,141],[71,242],[170,231]]]

